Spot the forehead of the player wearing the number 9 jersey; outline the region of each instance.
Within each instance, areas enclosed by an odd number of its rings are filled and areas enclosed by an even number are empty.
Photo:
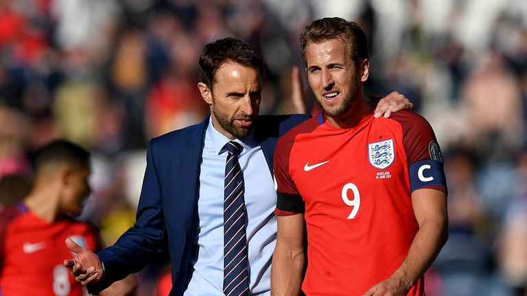
[[[306,47],[305,60],[307,66],[326,64],[329,62],[345,62],[351,60],[351,50],[347,42],[331,39],[322,42],[312,42]]]

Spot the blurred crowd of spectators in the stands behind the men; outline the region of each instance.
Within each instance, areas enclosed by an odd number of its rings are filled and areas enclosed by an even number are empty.
[[[325,16],[368,34],[365,95],[406,95],[443,150],[449,241],[428,295],[524,295],[524,0],[0,0],[1,206],[30,187],[35,147],[67,138],[93,153],[80,219],[112,244],[134,222],[148,140],[208,114],[196,86],[203,46],[253,44],[267,66],[261,114],[290,113],[298,34]],[[160,258],[141,271],[137,295],[154,295],[165,269]]]

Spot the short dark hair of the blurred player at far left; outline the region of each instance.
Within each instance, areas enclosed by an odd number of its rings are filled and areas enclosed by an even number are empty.
[[[90,153],[68,140],[53,140],[36,149],[32,158],[34,172],[49,164],[73,164],[80,168],[89,168]]]

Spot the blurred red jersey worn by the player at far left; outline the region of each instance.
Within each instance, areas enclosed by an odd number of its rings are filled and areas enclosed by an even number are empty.
[[[20,203],[0,214],[0,295],[86,295],[62,262],[75,256],[65,245],[71,238],[92,251],[99,234],[89,223],[67,216],[54,223],[36,217]]]

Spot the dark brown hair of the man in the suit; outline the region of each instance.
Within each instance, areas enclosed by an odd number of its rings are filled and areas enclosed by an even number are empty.
[[[264,77],[264,60],[256,49],[244,40],[227,37],[205,45],[200,56],[200,82],[211,88],[216,71],[229,61],[254,68]]]

